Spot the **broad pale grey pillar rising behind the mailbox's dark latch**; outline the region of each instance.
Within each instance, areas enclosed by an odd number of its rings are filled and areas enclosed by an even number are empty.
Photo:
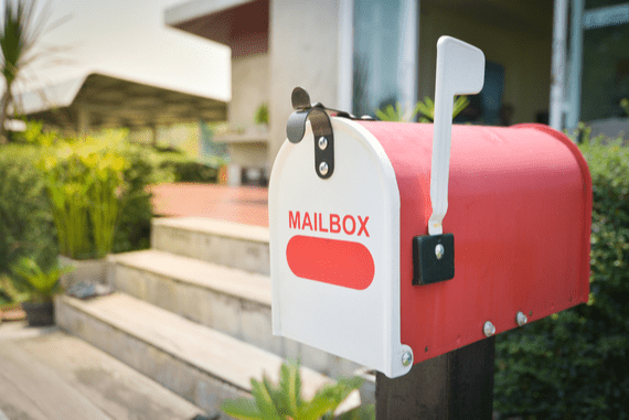
[[[338,101],[339,4],[335,0],[273,0],[269,4],[270,169],[286,139],[290,94],[301,86],[312,101]]]

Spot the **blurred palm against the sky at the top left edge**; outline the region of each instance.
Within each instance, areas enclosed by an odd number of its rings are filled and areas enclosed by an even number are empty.
[[[4,17],[0,20],[0,72],[4,93],[0,103],[0,143],[7,142],[4,122],[10,106],[15,107],[13,87],[24,68],[41,56],[35,46],[50,18],[47,4],[38,13],[36,0],[4,0]]]

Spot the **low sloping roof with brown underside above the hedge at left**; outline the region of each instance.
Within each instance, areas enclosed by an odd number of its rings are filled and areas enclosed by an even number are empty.
[[[142,128],[186,121],[224,121],[224,101],[92,73],[17,97],[31,119],[63,129]]]

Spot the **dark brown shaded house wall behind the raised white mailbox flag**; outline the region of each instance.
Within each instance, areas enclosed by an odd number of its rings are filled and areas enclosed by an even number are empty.
[[[543,19],[552,19],[544,15]],[[478,46],[486,60],[504,66],[503,104],[514,106],[513,122],[534,122],[548,111],[552,25],[498,24],[456,10],[423,8],[419,19],[419,95],[435,97],[437,41],[450,35]],[[542,22],[543,23],[543,22]]]

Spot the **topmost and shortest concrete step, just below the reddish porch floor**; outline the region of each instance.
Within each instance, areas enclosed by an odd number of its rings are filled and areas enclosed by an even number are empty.
[[[153,218],[151,248],[268,276],[268,228],[204,217]]]

